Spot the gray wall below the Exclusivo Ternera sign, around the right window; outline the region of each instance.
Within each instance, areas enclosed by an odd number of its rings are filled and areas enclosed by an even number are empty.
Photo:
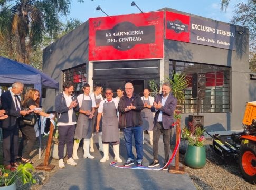
[[[200,113],[204,116],[204,127],[209,131],[241,129],[246,102],[255,100],[256,81],[250,80],[249,75],[249,31],[243,31],[244,34],[237,34],[235,51],[172,40],[164,42],[165,66],[172,59],[231,67],[231,112]],[[183,125],[187,124],[187,120],[188,114],[182,115]]]

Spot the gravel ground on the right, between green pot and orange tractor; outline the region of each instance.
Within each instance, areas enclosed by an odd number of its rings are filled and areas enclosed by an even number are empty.
[[[256,189],[243,179],[238,162],[225,162],[214,149],[212,142],[207,141],[206,165],[202,169],[192,169],[185,166],[185,172],[191,177],[198,189]],[[184,164],[185,154],[180,155],[180,162]]]

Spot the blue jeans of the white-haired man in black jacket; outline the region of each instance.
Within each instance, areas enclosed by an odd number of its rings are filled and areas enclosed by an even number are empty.
[[[143,159],[143,130],[141,126],[124,128],[125,146],[128,155],[128,160],[134,160],[132,153],[132,134],[134,135],[135,148],[137,154],[137,162],[142,162]]]

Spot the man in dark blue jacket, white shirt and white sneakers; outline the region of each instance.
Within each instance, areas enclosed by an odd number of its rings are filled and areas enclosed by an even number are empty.
[[[59,131],[59,167],[64,168],[64,144],[67,144],[68,160],[67,164],[77,165],[72,158],[73,140],[77,116],[75,112],[79,111],[77,97],[73,94],[74,86],[72,82],[63,83],[63,92],[55,98],[55,110],[57,113],[57,126]]]

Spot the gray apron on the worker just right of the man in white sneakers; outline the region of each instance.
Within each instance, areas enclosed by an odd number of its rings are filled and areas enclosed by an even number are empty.
[[[84,94],[83,94],[83,101],[80,109],[91,110],[91,106],[92,106],[92,100],[84,100]],[[89,115],[80,113],[77,120],[77,127],[75,128],[75,132],[74,132],[74,139],[91,138],[91,136],[92,136],[92,120],[89,119]]]

